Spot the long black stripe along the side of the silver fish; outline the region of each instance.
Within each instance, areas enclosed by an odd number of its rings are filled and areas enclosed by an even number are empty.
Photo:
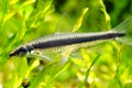
[[[61,38],[61,40],[53,40],[47,42],[38,42],[32,44],[34,48],[51,48],[57,46],[66,46],[72,44],[80,44],[86,42],[92,42],[98,40],[109,40],[114,37],[124,36],[125,33],[107,33],[101,35],[94,35],[94,36],[84,36],[84,37],[68,37],[68,38]]]

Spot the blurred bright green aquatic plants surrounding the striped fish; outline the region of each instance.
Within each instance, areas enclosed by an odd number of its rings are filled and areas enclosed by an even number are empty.
[[[9,58],[36,37],[108,31],[130,15],[131,0],[0,0],[0,88],[131,88],[132,46],[119,42],[82,48],[65,65],[42,70],[38,59]]]

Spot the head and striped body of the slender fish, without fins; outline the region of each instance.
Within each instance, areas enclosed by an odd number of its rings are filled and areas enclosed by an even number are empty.
[[[124,36],[125,33],[117,33],[114,31],[97,32],[97,33],[59,33],[47,35],[37,40],[34,40],[28,44],[21,45],[11,56],[24,55],[32,53],[33,51],[59,51],[66,47],[81,48],[92,46],[97,43],[106,42],[117,37]]]

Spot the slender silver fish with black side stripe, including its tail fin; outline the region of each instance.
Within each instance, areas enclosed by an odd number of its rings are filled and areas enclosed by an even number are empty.
[[[129,32],[128,32],[129,29]],[[110,31],[105,32],[92,32],[92,33],[56,33],[52,35],[46,35],[23,45],[20,45],[16,50],[9,54],[12,56],[30,56],[30,54],[38,53],[40,51],[50,52],[50,51],[64,51],[67,48],[82,48],[94,46],[96,44],[107,42],[109,40],[129,43],[131,40],[132,30],[132,16],[124,20],[118,26],[113,28]],[[129,41],[125,38],[130,37]],[[38,52],[37,52],[38,51]]]

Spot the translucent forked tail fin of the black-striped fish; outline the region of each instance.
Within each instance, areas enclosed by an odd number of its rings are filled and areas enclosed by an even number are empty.
[[[125,36],[117,38],[119,42],[132,45],[132,16],[124,20],[118,26],[113,28],[116,32],[123,32]]]

